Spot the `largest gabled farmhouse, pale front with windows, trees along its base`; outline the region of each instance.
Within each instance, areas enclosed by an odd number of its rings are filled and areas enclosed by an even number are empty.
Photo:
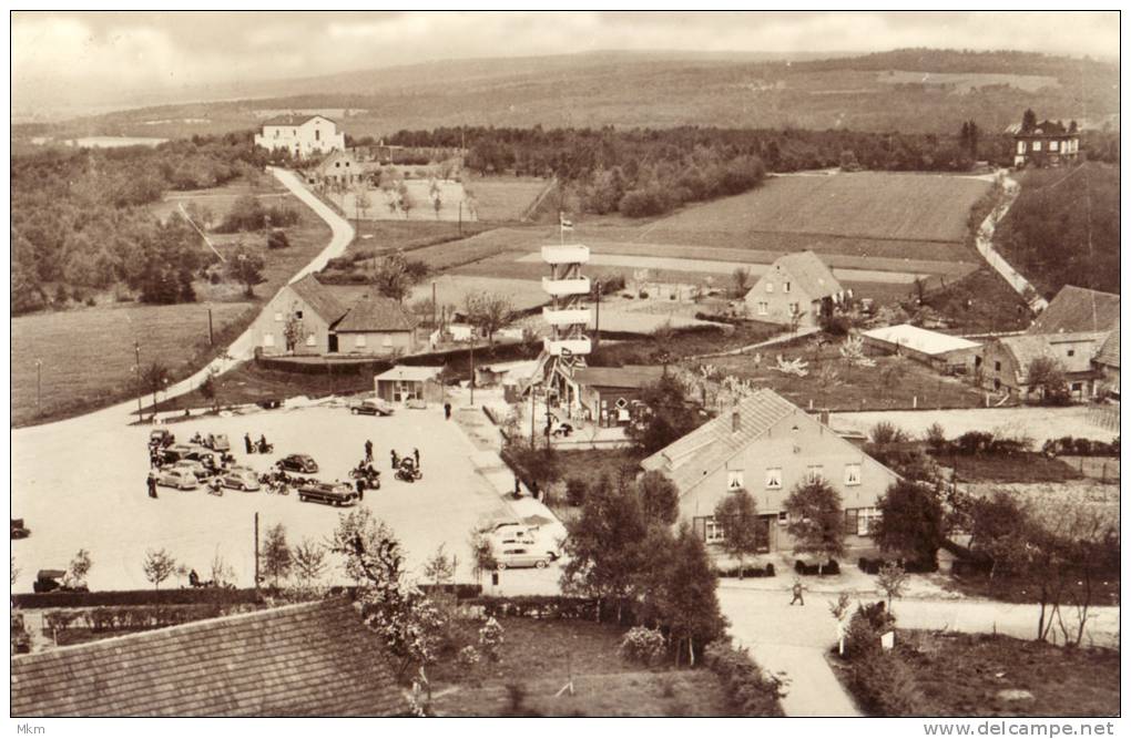
[[[793,548],[785,499],[793,488],[818,477],[840,494],[847,546],[870,547],[869,532],[880,515],[877,501],[897,479],[767,388],[645,459],[641,467],[672,479],[680,492],[681,518],[708,544],[723,540],[723,524],[714,519],[718,502],[735,490],[749,492],[758,504],[763,551]]]

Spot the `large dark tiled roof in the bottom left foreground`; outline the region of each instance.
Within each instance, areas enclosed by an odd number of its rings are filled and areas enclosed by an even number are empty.
[[[14,716],[364,716],[406,708],[383,640],[342,599],[11,658]]]

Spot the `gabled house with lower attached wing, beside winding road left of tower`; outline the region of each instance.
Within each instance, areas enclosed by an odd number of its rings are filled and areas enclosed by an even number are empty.
[[[279,290],[257,319],[254,332],[265,355],[399,356],[416,350],[417,324],[397,301],[363,295],[343,304],[308,275]]]

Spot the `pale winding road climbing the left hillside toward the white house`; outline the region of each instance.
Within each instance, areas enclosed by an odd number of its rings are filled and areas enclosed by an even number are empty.
[[[278,167],[268,167],[268,171],[275,176],[279,183],[285,186],[291,193],[302,200],[304,203],[310,206],[319,218],[325,220],[329,225],[331,231],[330,242],[326,247],[318,253],[314,259],[310,261],[305,267],[299,270],[294,277],[291,278],[291,282],[302,279],[307,275],[317,272],[326,267],[326,263],[339,257],[354,237],[354,228],[349,225],[345,218],[339,216],[334,211],[333,208],[327,206],[325,202],[314,197],[314,193],[310,192],[303,184],[302,181],[293,173],[287,169],[282,169]],[[274,296],[273,296],[274,299]],[[270,301],[264,304],[264,311],[270,305]],[[258,320],[259,316],[256,316]],[[256,337],[253,334],[252,327],[254,321],[248,327],[248,329],[241,333],[235,341],[228,346],[227,350],[222,354],[216,359],[213,359],[208,365],[201,367],[198,372],[192,374],[178,383],[169,386],[169,391],[163,393],[166,398],[175,398],[178,395],[183,395],[185,393],[196,390],[201,382],[208,376],[210,372],[223,373],[227,372],[235,365],[254,356],[256,351]],[[148,395],[144,397],[146,400]],[[42,426],[31,426],[21,429],[14,429],[12,437],[17,436],[36,436],[40,429],[50,429],[50,433],[57,434],[60,431],[69,432],[70,429],[76,429],[80,435],[93,431],[94,427],[89,426],[93,420],[112,423],[115,425],[127,425],[133,420],[132,414],[137,409],[137,398],[131,398],[129,400],[122,401],[114,406],[103,408],[101,410],[90,411],[83,416],[76,416],[74,418],[67,418],[64,420],[54,421],[51,424],[44,424]],[[148,400],[147,400],[148,402]]]

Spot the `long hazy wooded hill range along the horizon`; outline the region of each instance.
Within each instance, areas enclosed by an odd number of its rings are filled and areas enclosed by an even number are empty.
[[[361,70],[240,90],[245,99],[120,112],[41,125],[34,136],[179,138],[248,129],[288,108],[327,108],[356,137],[535,124],[950,133],[967,120],[995,132],[1027,107],[1085,128],[1119,124],[1117,63],[1019,52],[913,49],[788,63],[604,52]]]

